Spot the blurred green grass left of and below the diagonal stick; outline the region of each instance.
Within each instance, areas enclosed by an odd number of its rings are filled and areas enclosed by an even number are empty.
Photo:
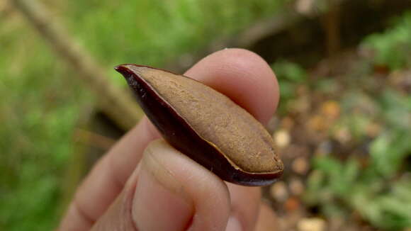
[[[0,36],[0,43],[14,36]],[[52,230],[79,98],[88,97],[64,79],[69,72],[39,40],[2,49],[8,56],[0,56],[0,230]]]

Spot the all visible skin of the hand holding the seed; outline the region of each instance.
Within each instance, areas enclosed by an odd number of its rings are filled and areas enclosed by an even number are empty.
[[[276,77],[253,52],[220,50],[185,75],[263,124],[276,111]],[[143,118],[86,176],[58,230],[276,230],[260,188],[226,183],[159,138]]]

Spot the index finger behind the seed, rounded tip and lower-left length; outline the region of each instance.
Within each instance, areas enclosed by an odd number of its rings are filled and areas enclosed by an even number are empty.
[[[261,57],[247,50],[215,52],[189,69],[186,76],[225,94],[262,123],[269,120],[278,103],[278,84],[271,68]],[[143,118],[86,177],[62,227],[76,227],[76,230],[91,227],[118,196],[140,162],[145,147],[157,137],[157,130]]]

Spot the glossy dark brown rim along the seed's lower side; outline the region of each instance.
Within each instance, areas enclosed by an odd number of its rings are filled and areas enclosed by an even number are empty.
[[[230,161],[227,160],[224,154],[219,152],[218,148],[203,140],[145,79],[128,69],[126,65],[134,65],[136,67],[148,66],[121,64],[115,67],[115,69],[120,74],[123,74],[147,117],[150,118],[164,139],[175,147],[176,150],[186,154],[198,162],[198,164],[212,171],[220,179],[234,184],[266,186],[274,183],[282,175],[283,171],[266,173],[247,172],[230,164]],[[153,67],[148,68],[155,69]]]

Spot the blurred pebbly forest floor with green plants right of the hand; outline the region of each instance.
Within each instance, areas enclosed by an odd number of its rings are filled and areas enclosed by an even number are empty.
[[[402,230],[401,225],[410,225],[409,211],[401,215],[402,209],[393,207],[411,200],[406,195],[411,69],[392,70],[370,62],[371,56],[359,46],[313,69],[288,71],[288,78],[298,79],[294,94],[284,93],[280,116],[269,124],[286,171],[264,190],[279,230]]]

